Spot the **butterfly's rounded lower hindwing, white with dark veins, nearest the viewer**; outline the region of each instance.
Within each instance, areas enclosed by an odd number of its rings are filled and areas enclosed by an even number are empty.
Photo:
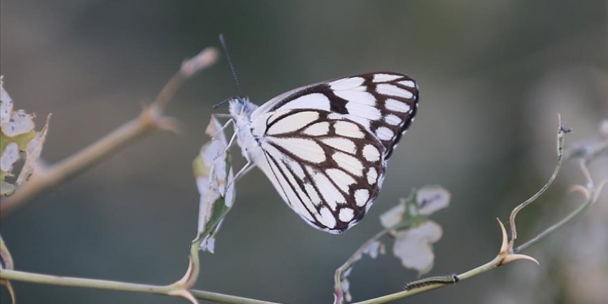
[[[361,124],[330,111],[278,110],[252,124],[263,132],[260,166],[283,200],[313,227],[340,233],[378,196],[383,146]]]

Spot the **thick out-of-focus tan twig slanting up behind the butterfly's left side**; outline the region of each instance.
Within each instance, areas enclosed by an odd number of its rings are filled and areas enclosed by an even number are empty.
[[[126,124],[97,140],[97,142],[93,142],[93,144],[86,146],[81,151],[70,155],[48,169],[32,175],[32,178],[22,187],[19,187],[14,195],[2,199],[0,204],[1,216],[7,216],[10,211],[39,193],[66,182],[66,180],[93,167],[104,158],[124,146],[132,144],[137,138],[150,131],[175,131],[177,129],[175,122],[163,115],[164,108],[185,80],[195,75],[196,72],[211,66],[217,61],[217,58],[218,52],[215,48],[205,48],[195,57],[184,61],[180,70],[162,88],[154,102],[142,109],[139,117],[126,122]]]

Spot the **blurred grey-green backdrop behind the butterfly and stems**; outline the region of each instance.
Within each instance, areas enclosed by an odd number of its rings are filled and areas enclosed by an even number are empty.
[[[608,116],[606,1],[0,4],[0,73],[18,108],[39,117],[53,113],[43,151],[50,163],[135,117],[184,58],[218,46],[222,32],[243,90],[258,104],[297,86],[374,70],[417,79],[419,115],[390,160],[383,192],[366,219],[340,236],[312,229],[260,171],[252,171],[237,184],[216,254],[202,254],[196,287],[213,292],[331,303],[334,269],[381,229],[383,211],[424,184],[441,184],[453,194],[450,207],[434,216],[444,236],[435,245],[431,274],[485,263],[500,246],[495,218],[506,220],[553,170],[558,113],[575,130],[569,143],[597,138],[598,124]],[[145,137],[3,214],[2,236],[17,269],[157,284],[180,278],[197,225],[191,160],[208,140],[211,105],[234,95],[222,59],[169,105],[183,135]],[[606,166],[597,162],[594,174],[605,176]],[[580,196],[567,190],[582,181],[577,165],[566,164],[555,187],[522,214],[522,239],[571,209]],[[544,260],[537,256],[542,267],[509,265],[407,303],[599,303],[608,297],[601,287],[608,281],[607,198],[528,251],[549,253]],[[568,267],[585,271],[568,276]],[[591,283],[573,284],[585,283],[589,274]],[[354,300],[363,300],[397,292],[415,278],[388,247],[386,256],[356,265],[350,281]],[[184,303],[14,284],[20,303]],[[0,294],[2,303],[10,301],[6,289]]]

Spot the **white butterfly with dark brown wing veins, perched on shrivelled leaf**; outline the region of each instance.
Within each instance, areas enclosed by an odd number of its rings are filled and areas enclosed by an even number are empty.
[[[386,162],[414,121],[418,99],[414,79],[391,72],[303,86],[262,106],[246,97],[229,99],[236,142],[247,160],[235,179],[258,167],[298,216],[339,234],[377,198]]]

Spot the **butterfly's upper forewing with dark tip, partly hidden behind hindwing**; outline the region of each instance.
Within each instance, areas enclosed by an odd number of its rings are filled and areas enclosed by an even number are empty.
[[[330,111],[361,124],[381,141],[386,159],[415,118],[418,86],[407,75],[367,73],[312,84],[283,93],[251,115],[287,109]]]

